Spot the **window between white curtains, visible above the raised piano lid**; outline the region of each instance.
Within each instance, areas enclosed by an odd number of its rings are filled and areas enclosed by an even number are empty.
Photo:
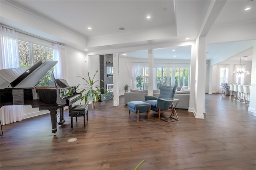
[[[39,60],[53,60],[53,49],[19,41],[20,67],[29,67]]]

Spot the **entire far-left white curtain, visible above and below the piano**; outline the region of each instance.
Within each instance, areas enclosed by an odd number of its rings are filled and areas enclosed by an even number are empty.
[[[0,27],[0,69],[20,67],[18,32]],[[24,120],[23,105],[4,106],[0,109],[2,125]]]

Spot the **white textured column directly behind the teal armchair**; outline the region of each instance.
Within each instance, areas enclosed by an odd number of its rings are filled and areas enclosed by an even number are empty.
[[[153,96],[154,51],[148,49],[148,95]]]

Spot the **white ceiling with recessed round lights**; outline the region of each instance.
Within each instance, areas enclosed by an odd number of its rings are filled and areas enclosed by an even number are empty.
[[[209,0],[14,0],[13,2],[24,11],[33,15],[38,14],[40,18],[58,24],[86,39],[87,45],[76,45],[81,50],[87,48],[90,52],[120,49],[120,56],[126,54],[125,57],[147,58],[148,53],[143,46],[156,45],[160,47],[154,49],[154,57],[159,59],[190,59],[190,46],[161,47],[158,44],[185,42],[187,37],[195,40],[211,3]],[[228,0],[226,4],[225,1],[218,3],[224,6],[220,12],[212,11],[218,14],[213,27],[256,20],[256,1]],[[244,11],[247,6],[251,6],[251,9]],[[146,19],[146,16],[151,18]],[[10,22],[1,17],[1,23],[8,26]],[[88,30],[88,27],[92,30]],[[121,27],[125,30],[119,30]],[[43,35],[40,31],[35,34]],[[62,39],[64,38],[58,40]],[[68,40],[63,40],[62,43],[69,45]],[[233,43],[207,44],[207,59],[212,59]],[[176,57],[173,57],[174,55]],[[248,49],[232,56],[230,60],[237,58],[239,60],[241,55],[248,55],[250,61],[252,50]]]

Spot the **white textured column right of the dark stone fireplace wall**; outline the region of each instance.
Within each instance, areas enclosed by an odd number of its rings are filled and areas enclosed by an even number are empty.
[[[119,106],[119,56],[118,53],[113,53],[113,85],[114,85],[114,99],[113,105]]]

